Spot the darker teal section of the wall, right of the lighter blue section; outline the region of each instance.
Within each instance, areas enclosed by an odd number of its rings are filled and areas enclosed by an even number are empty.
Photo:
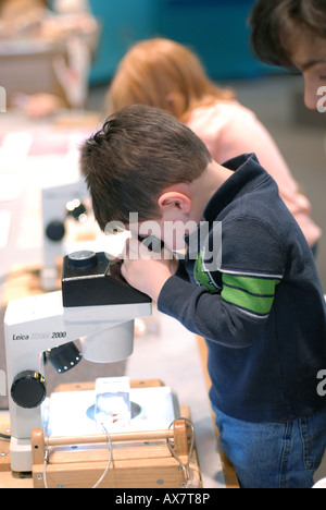
[[[213,78],[252,77],[264,66],[250,51],[253,0],[161,0],[160,29],[190,46]]]

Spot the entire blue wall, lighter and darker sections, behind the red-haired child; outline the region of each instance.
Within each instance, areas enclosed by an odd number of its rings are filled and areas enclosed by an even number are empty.
[[[155,36],[189,46],[215,80],[268,72],[250,51],[254,0],[89,0],[102,23],[91,83],[108,82],[131,44]]]

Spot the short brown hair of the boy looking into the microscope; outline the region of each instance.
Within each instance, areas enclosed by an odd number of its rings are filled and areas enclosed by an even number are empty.
[[[201,139],[166,111],[135,105],[111,116],[82,147],[80,168],[90,191],[96,220],[160,218],[160,193],[192,182],[212,157]]]

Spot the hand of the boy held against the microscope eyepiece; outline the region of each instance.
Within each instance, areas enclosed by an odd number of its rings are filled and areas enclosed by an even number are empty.
[[[121,272],[127,282],[140,292],[158,301],[160,292],[173,274],[172,254],[163,248],[160,254],[151,252],[137,239],[129,239],[118,258],[124,260]]]

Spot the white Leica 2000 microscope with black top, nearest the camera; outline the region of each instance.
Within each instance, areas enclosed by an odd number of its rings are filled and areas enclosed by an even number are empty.
[[[134,319],[149,315],[151,299],[122,278],[120,264],[89,251],[64,257],[61,291],[9,303],[4,335],[12,471],[32,471],[30,434],[45,421],[45,361],[64,373],[82,355],[95,363],[125,360],[134,349]]]

